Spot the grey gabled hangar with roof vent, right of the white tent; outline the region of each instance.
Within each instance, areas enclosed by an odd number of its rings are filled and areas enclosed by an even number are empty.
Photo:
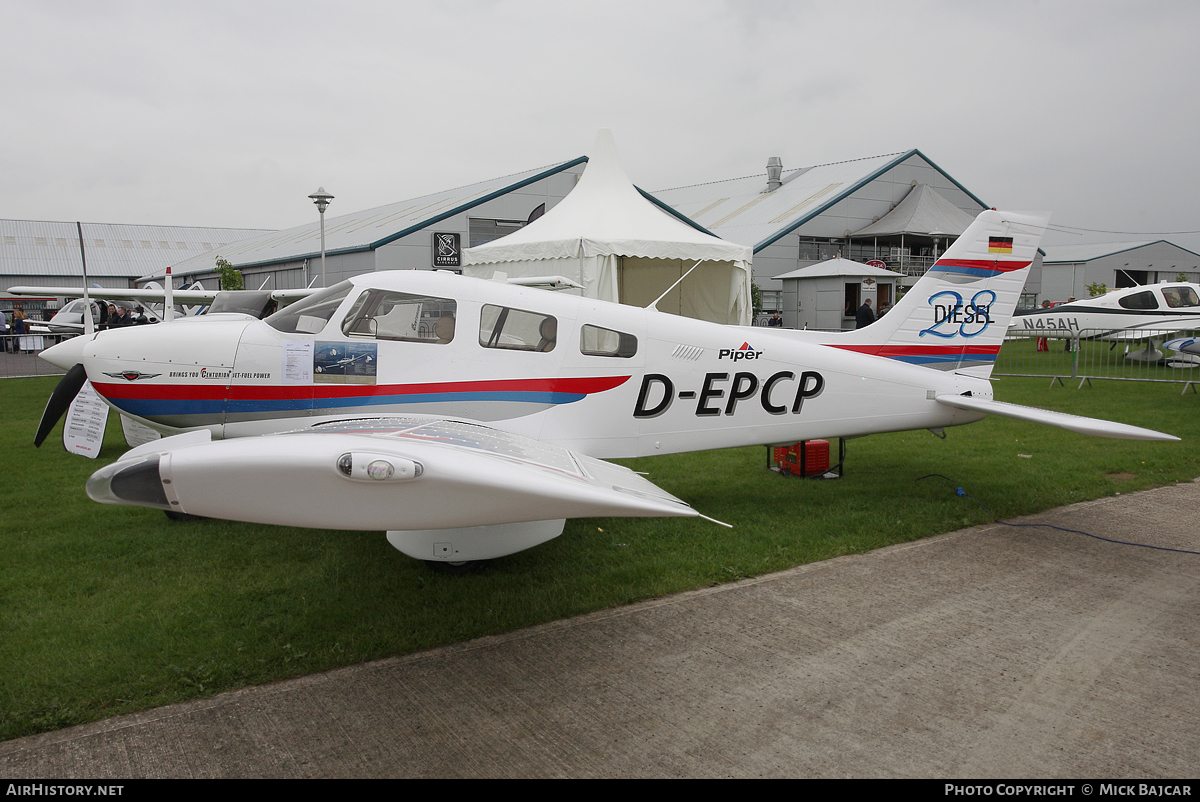
[[[654,197],[718,237],[751,246],[763,309],[781,311],[790,328],[815,327],[815,318],[802,317],[803,285],[776,276],[836,257],[919,276],[988,208],[919,150],[792,170],[773,157],[764,174],[658,190]],[[895,303],[877,294],[882,288],[864,295],[863,282],[847,277],[840,306],[851,313],[841,325],[822,315],[820,328],[853,328],[853,310],[868,297],[876,307]]]

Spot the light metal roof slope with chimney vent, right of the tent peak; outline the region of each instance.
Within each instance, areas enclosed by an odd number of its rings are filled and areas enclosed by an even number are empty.
[[[718,237],[758,250],[916,152],[791,170],[782,175],[784,184],[774,192],[766,191],[766,175],[757,174],[659,190],[654,196]]]

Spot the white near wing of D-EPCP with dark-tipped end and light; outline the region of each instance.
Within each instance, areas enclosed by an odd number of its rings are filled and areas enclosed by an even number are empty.
[[[176,435],[97,471],[88,495],[110,504],[331,529],[700,515],[622,466],[422,415],[217,442],[206,430]]]

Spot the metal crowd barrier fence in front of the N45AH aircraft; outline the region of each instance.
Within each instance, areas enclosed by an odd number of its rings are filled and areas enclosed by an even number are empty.
[[[1163,348],[1163,342],[1189,336],[1153,329],[1030,329],[1004,337],[994,376],[1034,376],[1062,383],[1076,379],[1171,382],[1195,391],[1200,357]]]

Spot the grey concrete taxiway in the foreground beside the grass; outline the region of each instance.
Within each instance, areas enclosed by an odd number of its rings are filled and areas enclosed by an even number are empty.
[[[1200,551],[1200,484],[1021,522]],[[0,743],[0,777],[1200,772],[1200,556],[989,525]]]

